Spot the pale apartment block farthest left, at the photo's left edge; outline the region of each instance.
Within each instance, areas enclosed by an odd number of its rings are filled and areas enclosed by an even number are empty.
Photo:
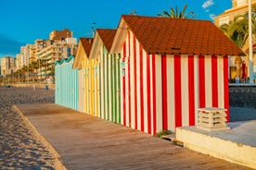
[[[6,76],[16,71],[16,58],[5,56],[1,59],[1,75]]]

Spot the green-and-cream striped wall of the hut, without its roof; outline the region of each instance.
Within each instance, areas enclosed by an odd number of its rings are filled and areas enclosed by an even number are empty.
[[[99,117],[121,124],[121,55],[109,55],[103,45],[100,55]]]

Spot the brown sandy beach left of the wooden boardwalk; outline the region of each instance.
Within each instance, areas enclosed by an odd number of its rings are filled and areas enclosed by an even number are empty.
[[[60,169],[56,154],[12,109],[16,103],[54,103],[54,91],[0,87],[0,169]]]

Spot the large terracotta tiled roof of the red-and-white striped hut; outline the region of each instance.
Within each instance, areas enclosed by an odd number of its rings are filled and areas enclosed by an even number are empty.
[[[243,55],[211,21],[123,15],[147,54]]]

